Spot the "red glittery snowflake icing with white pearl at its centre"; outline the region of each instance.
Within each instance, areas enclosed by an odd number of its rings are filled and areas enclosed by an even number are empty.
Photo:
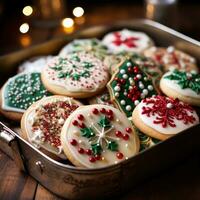
[[[195,118],[189,113],[193,113],[193,108],[188,104],[180,102],[178,99],[167,98],[164,96],[156,96],[153,98],[146,98],[143,100],[146,106],[142,107],[142,114],[147,117],[152,115],[158,115],[156,120],[153,121],[154,124],[162,124],[162,127],[176,127],[174,119],[183,121],[184,124],[193,124]],[[167,104],[172,104],[172,108],[167,108]],[[149,104],[153,106],[148,107]]]

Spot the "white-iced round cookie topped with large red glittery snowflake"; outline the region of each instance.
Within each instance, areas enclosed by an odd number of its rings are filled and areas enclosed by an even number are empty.
[[[137,105],[133,123],[143,133],[165,140],[199,124],[199,117],[192,107],[178,99],[154,96]]]

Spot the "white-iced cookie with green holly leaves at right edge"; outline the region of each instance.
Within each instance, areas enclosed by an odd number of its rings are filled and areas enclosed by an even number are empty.
[[[164,74],[160,88],[169,97],[200,106],[200,74],[195,72],[170,71]]]

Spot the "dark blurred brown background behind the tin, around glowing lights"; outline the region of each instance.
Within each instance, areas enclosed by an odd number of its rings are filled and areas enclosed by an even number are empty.
[[[117,20],[145,18],[142,0],[63,0],[64,14],[55,19],[54,26],[49,27],[45,26],[45,21],[42,25],[39,23],[41,16],[39,16],[38,2],[40,0],[0,0],[0,55],[25,47],[20,41],[24,35],[19,32],[19,27],[24,22],[30,25],[27,35],[29,39],[31,38],[31,42],[26,47],[66,34],[60,26],[60,21],[64,17],[73,17],[72,10],[76,6],[84,8],[85,22],[81,26],[76,26],[75,30],[90,25],[113,23]],[[30,17],[22,14],[22,9],[26,5],[32,5],[34,8]],[[173,26],[174,29],[200,40],[200,1],[179,0],[174,20],[177,21],[176,26]],[[170,25],[170,22],[172,23],[173,19],[167,24]],[[163,23],[165,24],[165,21]],[[46,24],[49,24],[49,21]]]

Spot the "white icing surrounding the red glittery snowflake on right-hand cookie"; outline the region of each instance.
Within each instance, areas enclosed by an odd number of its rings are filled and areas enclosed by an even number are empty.
[[[189,124],[186,125],[186,124],[184,124],[184,122],[182,120],[173,119],[176,127],[171,127],[171,126],[168,125],[167,127],[163,128],[162,124],[153,123],[153,121],[156,120],[156,117],[158,117],[157,113],[155,113],[154,115],[151,115],[151,117],[147,117],[147,115],[142,114],[142,107],[143,106],[148,106],[148,107],[151,108],[153,106],[153,104],[147,105],[146,103],[143,103],[143,101],[140,102],[139,105],[137,106],[139,118],[142,120],[142,122],[145,125],[153,128],[154,130],[156,130],[156,131],[158,131],[162,134],[166,134],[166,135],[177,134],[177,133],[180,133],[181,131],[188,129],[192,126],[195,126],[196,124],[199,123],[199,117],[198,117],[198,115],[195,111],[193,111],[193,113],[186,111],[189,115],[193,115],[193,117],[196,119],[193,124],[189,123]]]

